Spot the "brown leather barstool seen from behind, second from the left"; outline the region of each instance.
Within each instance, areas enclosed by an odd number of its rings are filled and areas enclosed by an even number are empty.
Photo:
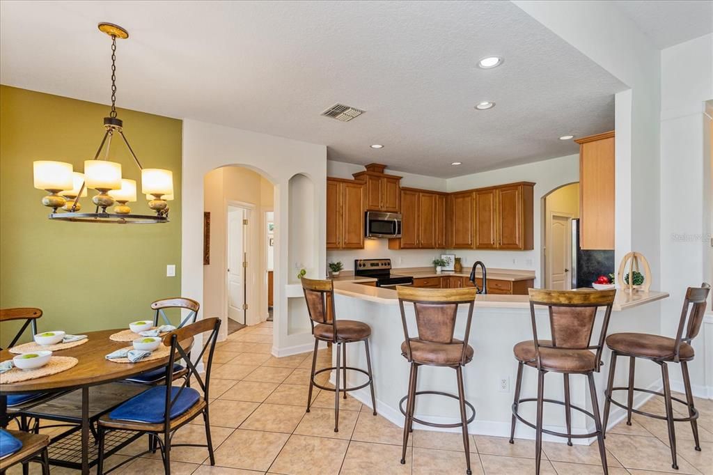
[[[404,325],[405,341],[401,343],[401,354],[411,363],[409,376],[409,394],[399,403],[399,409],[404,414],[404,445],[401,453],[401,464],[406,463],[406,445],[409,443],[409,432],[414,430],[414,421],[431,427],[461,427],[463,431],[463,448],[466,453],[466,474],[471,475],[471,451],[468,441],[468,424],[476,417],[473,404],[466,401],[463,388],[463,367],[473,360],[473,347],[468,344],[473,319],[473,304],[476,300],[476,288],[464,289],[429,289],[418,287],[396,287],[401,307],[401,322]],[[416,314],[416,337],[409,335],[409,325],[406,323],[404,302],[414,304]],[[458,305],[468,304],[468,317],[463,339],[453,338],[456,329]],[[441,391],[416,391],[420,366],[441,366],[456,370],[458,378],[458,396]],[[416,396],[421,394],[436,394],[458,399],[461,409],[461,422],[456,424],[436,424],[414,417]],[[406,400],[406,410],[401,407]],[[466,406],[471,409],[471,417],[466,417]]]

